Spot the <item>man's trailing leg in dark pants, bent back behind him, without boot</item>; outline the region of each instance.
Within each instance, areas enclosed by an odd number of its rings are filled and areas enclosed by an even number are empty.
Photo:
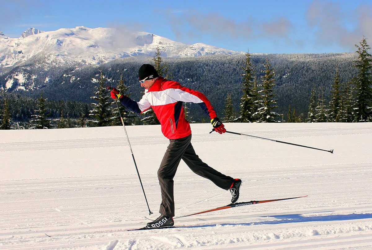
[[[211,180],[222,189],[228,190],[234,182],[234,179],[230,176],[224,175],[202,162],[199,156],[196,155],[191,143],[188,145],[185,153],[183,153],[182,160],[194,173]]]

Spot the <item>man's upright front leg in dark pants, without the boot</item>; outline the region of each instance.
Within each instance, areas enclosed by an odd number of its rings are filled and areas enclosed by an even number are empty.
[[[173,197],[173,178],[182,155],[190,145],[191,135],[170,140],[167,151],[160,163],[158,179],[161,190],[160,214],[174,217],[174,197]]]

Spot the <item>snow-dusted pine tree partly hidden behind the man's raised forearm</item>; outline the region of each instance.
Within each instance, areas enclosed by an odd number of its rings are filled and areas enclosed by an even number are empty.
[[[118,85],[116,86],[116,89],[118,89],[123,95],[126,95],[126,96],[131,95],[130,93],[128,93],[129,87],[124,84],[123,75],[120,75],[120,79],[119,79]],[[114,114],[117,114],[117,116],[113,117],[113,125],[121,126],[122,123],[119,117],[119,112],[118,110],[116,110],[117,106],[115,102],[116,102],[115,100],[113,100],[112,102],[112,104],[114,104],[113,112]],[[119,104],[119,109],[120,109],[120,113],[124,121],[124,125],[125,126],[134,125],[135,124],[134,120],[135,120],[135,117],[137,117],[137,114],[135,114],[133,111],[128,110],[125,106],[121,104]]]

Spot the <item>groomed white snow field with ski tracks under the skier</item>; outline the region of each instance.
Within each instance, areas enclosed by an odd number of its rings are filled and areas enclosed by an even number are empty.
[[[122,127],[0,130],[0,249],[372,249],[371,123],[225,125],[334,154],[192,124],[200,158],[243,180],[239,202],[308,197],[128,232],[149,214]],[[156,172],[169,141],[156,125],[127,131],[156,218]],[[183,162],[174,183],[176,216],[231,199]]]

